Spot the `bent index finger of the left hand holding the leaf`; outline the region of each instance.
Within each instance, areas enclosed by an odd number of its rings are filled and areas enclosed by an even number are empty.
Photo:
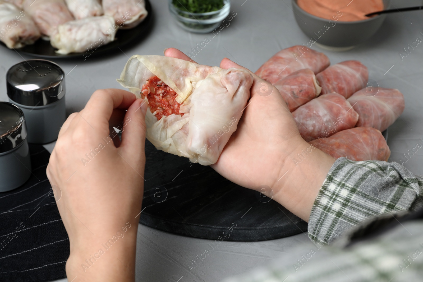
[[[94,129],[108,131],[113,110],[126,110],[135,99],[133,93],[121,89],[96,90],[85,105],[82,118]]]

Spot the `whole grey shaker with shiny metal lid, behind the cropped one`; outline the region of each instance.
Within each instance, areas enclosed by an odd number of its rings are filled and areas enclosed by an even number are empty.
[[[25,115],[28,142],[57,139],[66,119],[65,74],[56,63],[34,59],[17,63],[6,74],[9,101]]]

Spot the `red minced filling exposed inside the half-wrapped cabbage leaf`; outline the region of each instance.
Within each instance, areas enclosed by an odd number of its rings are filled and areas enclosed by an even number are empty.
[[[141,95],[147,97],[148,106],[152,114],[160,120],[164,115],[184,115],[179,112],[179,104],[176,101],[178,94],[158,77],[150,77],[141,89]]]

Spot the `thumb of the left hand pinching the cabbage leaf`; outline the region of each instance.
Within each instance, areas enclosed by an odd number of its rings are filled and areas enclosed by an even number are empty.
[[[136,163],[144,155],[147,99],[137,99],[126,111],[119,150],[128,161]]]

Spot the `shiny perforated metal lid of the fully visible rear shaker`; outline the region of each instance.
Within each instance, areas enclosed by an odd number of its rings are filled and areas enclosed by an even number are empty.
[[[7,95],[16,103],[44,106],[65,96],[65,74],[49,60],[26,60],[9,68],[6,86]]]

